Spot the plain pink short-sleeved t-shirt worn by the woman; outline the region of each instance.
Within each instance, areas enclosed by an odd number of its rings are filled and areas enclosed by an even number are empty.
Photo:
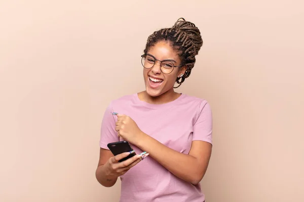
[[[121,141],[115,131],[117,117],[111,112],[131,117],[146,134],[164,145],[188,154],[193,140],[212,143],[212,114],[205,99],[181,94],[173,102],[153,105],[141,101],[137,93],[113,100],[107,107],[102,124],[100,147]],[[136,154],[141,149],[132,145]],[[176,162],[176,166],[183,162]],[[121,202],[198,201],[205,195],[201,186],[186,182],[147,157],[121,176]]]

